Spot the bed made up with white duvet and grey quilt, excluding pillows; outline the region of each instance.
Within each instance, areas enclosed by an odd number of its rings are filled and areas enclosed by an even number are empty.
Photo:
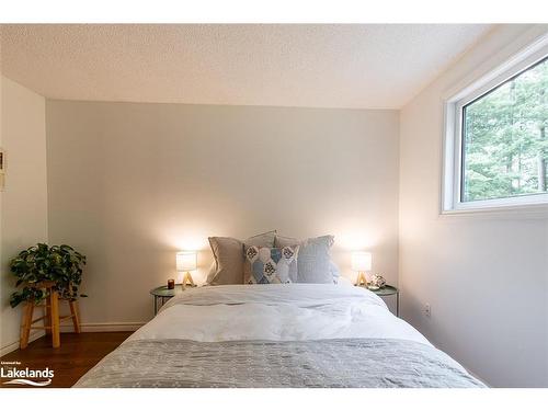
[[[189,289],[75,387],[484,387],[361,287]]]

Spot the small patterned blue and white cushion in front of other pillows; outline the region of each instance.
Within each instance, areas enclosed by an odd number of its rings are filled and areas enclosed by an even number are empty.
[[[246,284],[286,284],[297,277],[299,246],[281,249],[244,247],[243,281]]]

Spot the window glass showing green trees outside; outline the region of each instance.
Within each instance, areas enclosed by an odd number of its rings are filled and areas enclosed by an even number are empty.
[[[548,60],[465,107],[464,199],[548,191]]]

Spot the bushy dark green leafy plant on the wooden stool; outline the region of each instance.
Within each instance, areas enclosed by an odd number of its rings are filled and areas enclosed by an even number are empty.
[[[82,282],[82,266],[85,255],[70,246],[52,246],[38,243],[23,250],[10,262],[10,270],[18,277],[15,287],[23,288],[10,297],[10,305],[16,307],[23,301],[38,304],[46,297],[42,283],[54,283],[59,297],[76,300],[78,287]]]

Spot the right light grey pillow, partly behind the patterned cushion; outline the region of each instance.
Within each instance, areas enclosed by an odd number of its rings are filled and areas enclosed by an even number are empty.
[[[333,284],[339,270],[333,271],[330,249],[333,236],[322,236],[298,241],[294,238],[276,236],[274,247],[284,248],[299,246],[297,261],[297,283]],[[336,266],[335,266],[336,267]]]

